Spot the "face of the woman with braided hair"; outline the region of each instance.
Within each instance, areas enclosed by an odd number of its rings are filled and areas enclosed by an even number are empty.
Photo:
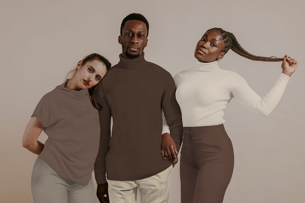
[[[224,53],[221,52],[223,47],[221,33],[218,30],[210,30],[198,41],[194,56],[201,62],[216,61],[217,58],[224,57]]]

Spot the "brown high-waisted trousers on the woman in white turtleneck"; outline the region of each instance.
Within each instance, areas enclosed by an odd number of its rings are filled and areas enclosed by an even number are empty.
[[[223,124],[183,127],[181,203],[221,203],[233,166],[233,147]]]

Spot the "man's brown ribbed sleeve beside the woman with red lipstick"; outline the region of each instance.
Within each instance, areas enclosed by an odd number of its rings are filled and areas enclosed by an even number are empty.
[[[111,111],[102,88],[102,81],[99,82],[95,95],[95,101],[102,110],[99,111],[99,121],[101,126],[99,152],[95,159],[94,174],[97,184],[106,183],[106,154],[109,151],[109,139],[111,135]]]

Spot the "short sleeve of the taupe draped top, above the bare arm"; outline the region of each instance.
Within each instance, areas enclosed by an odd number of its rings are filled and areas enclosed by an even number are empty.
[[[51,100],[48,96],[43,96],[37,104],[31,117],[36,117],[44,128],[52,125],[54,119],[52,118]]]

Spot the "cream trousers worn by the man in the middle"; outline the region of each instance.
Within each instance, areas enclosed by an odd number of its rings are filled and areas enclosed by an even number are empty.
[[[170,187],[170,171],[173,165],[154,176],[141,180],[108,180],[111,203],[135,203],[139,189],[141,203],[166,203]]]

